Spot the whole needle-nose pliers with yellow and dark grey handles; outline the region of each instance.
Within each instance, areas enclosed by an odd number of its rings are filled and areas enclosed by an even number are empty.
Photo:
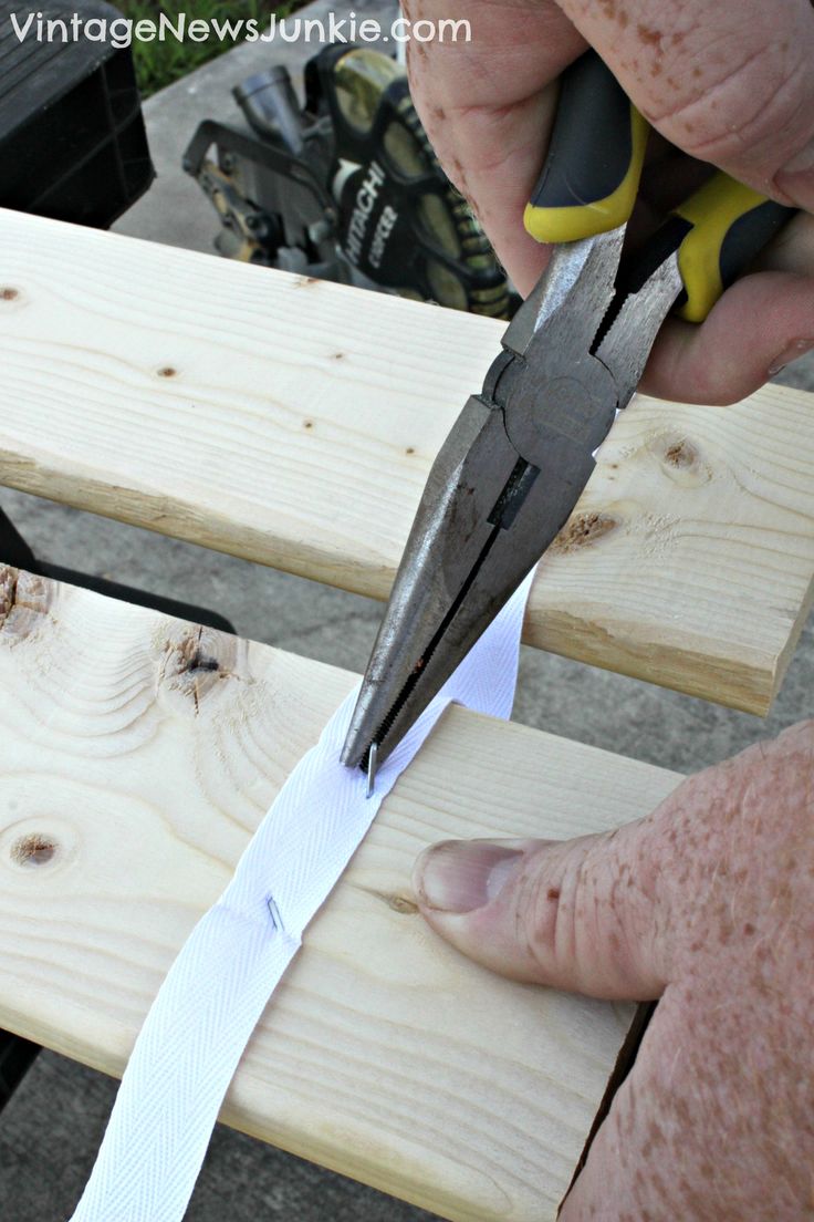
[[[432,466],[348,765],[392,752],[565,525],[669,312],[705,318],[792,211],[716,172],[622,257],[647,137],[594,53],[569,68],[525,213],[554,251]]]

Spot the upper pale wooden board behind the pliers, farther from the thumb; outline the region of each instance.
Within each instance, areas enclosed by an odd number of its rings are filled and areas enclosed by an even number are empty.
[[[0,483],[384,598],[502,324],[0,213]],[[768,711],[814,576],[814,403],[638,400],[526,639]]]

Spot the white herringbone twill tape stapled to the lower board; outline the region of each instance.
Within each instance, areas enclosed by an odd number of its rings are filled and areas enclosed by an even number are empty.
[[[371,798],[339,764],[356,692],[297,765],[153,1002],[72,1222],[181,1222],[249,1036],[382,799],[450,701],[510,715],[532,577],[381,765]]]

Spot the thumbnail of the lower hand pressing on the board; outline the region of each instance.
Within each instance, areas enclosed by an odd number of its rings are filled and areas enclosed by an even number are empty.
[[[475,912],[494,899],[522,855],[495,841],[443,841],[416,862],[414,887],[428,908]]]

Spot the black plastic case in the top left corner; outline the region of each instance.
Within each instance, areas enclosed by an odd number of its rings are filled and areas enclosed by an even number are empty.
[[[33,28],[21,42],[11,13],[32,11],[120,16],[101,0],[0,0],[0,207],[106,229],[154,177],[131,49],[37,40]]]

